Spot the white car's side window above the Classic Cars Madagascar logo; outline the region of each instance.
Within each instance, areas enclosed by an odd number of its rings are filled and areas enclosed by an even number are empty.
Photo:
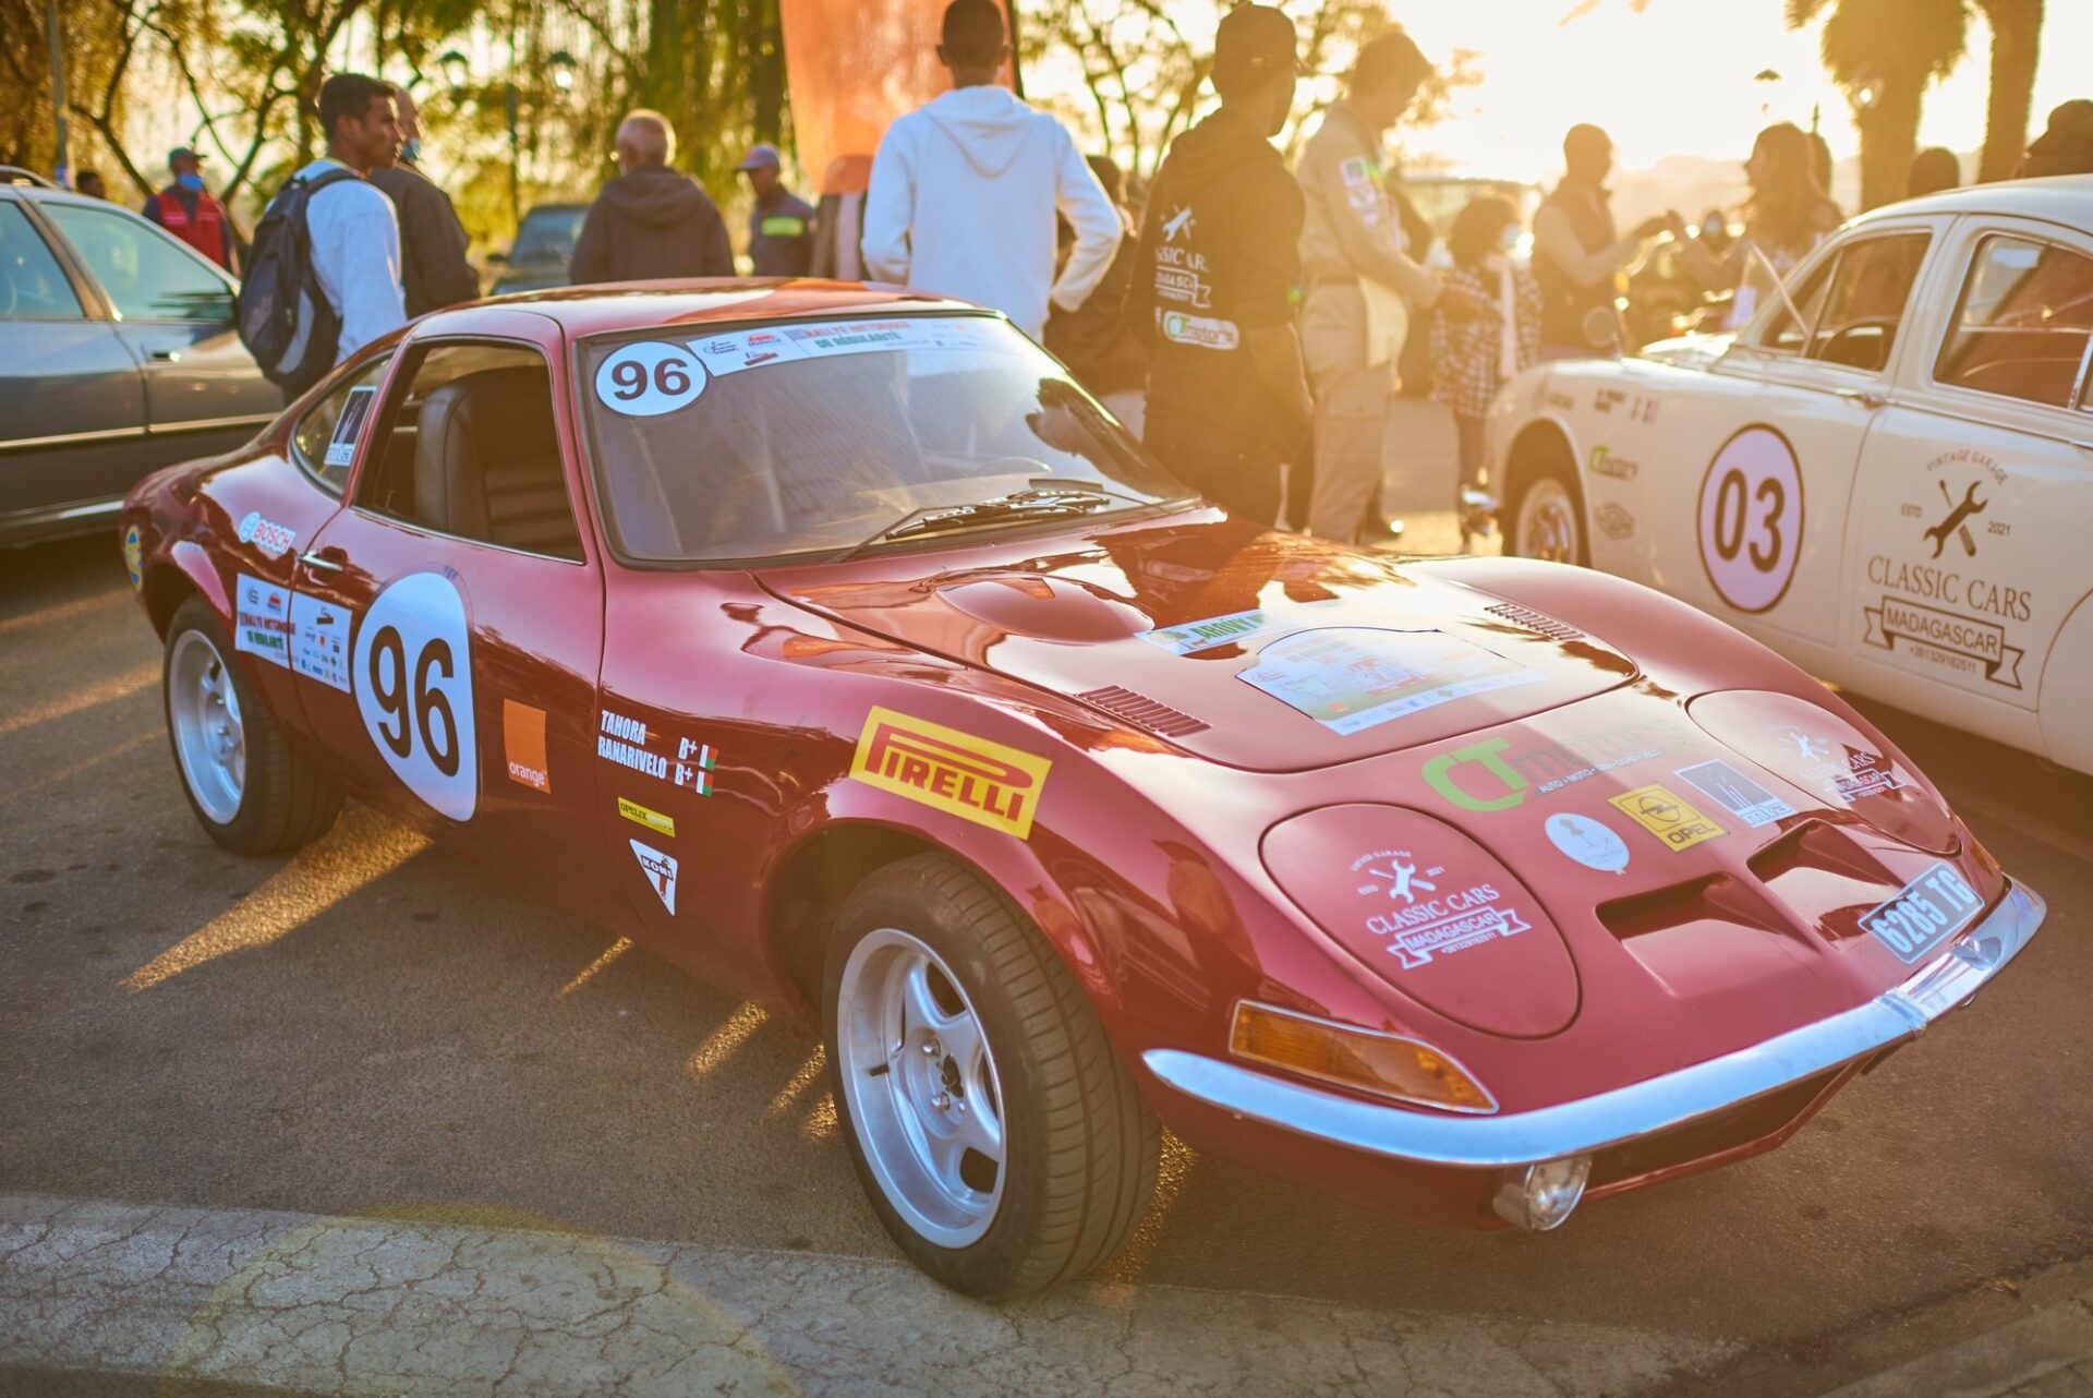
[[[2080,393],[2093,335],[2093,257],[1990,234],[1970,260],[1934,379],[2051,408]]]

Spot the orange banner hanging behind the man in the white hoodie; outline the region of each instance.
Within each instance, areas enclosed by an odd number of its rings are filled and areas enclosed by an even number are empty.
[[[938,63],[944,6],[781,0],[793,140],[816,195],[862,195],[887,123],[952,86]]]

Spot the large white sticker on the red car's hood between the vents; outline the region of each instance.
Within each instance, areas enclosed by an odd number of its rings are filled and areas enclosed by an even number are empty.
[[[1275,640],[1237,678],[1331,732],[1360,732],[1543,676],[1444,632],[1327,628]]]

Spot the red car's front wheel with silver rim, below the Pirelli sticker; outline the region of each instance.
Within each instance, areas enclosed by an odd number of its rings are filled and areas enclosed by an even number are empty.
[[[823,1023],[858,1180],[933,1279],[1019,1295],[1132,1237],[1155,1115],[1067,967],[975,873],[919,854],[860,883]]]

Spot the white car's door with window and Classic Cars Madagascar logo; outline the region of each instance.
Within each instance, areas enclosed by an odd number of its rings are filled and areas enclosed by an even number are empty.
[[[1944,251],[1923,354],[1861,458],[1844,678],[2043,751],[2053,647],[2093,592],[2093,236],[1970,216]]]

